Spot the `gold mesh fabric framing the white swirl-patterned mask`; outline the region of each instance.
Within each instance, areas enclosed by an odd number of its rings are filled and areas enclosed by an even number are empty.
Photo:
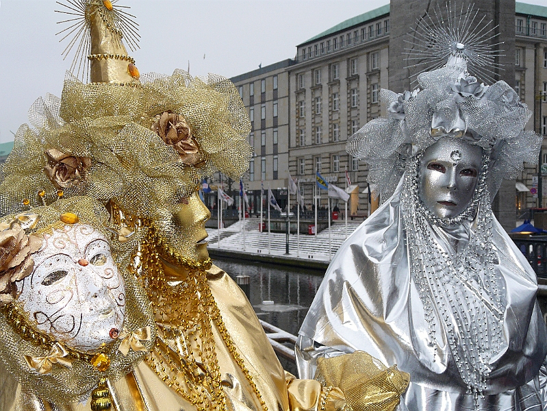
[[[58,201],[52,206],[38,207],[31,212],[40,214],[40,221],[35,229],[28,230],[27,234],[46,232],[51,227],[59,225],[59,217],[63,212],[72,212],[79,216],[81,223],[92,225],[102,231],[107,237],[110,232],[103,226],[109,214],[96,200],[89,197],[72,197]],[[9,219],[9,217],[7,218]],[[142,341],[149,351],[155,340],[155,322],[149,306],[147,295],[136,280],[131,266],[131,256],[140,242],[140,234],[131,236],[130,240],[120,243],[111,241],[111,251],[125,281],[126,314],[124,327],[129,332],[142,327],[151,327],[150,341]],[[117,340],[106,351],[111,364],[107,371],[101,373],[84,360],[73,362],[71,369],[54,367],[51,374],[42,375],[29,369],[24,356],[47,356],[49,348],[37,347],[23,340],[21,335],[8,323],[5,315],[0,313],[0,360],[10,374],[21,384],[23,391],[33,393],[36,397],[51,401],[60,406],[63,404],[88,399],[90,391],[97,387],[99,377],[105,376],[114,381],[127,374],[133,366],[138,364],[146,355],[143,351],[129,351],[127,356],[119,353]]]

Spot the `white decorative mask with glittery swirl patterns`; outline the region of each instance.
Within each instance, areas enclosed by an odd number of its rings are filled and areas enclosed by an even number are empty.
[[[29,320],[68,347],[93,351],[123,327],[125,285],[110,245],[90,225],[65,225],[44,234],[34,271],[18,282]]]

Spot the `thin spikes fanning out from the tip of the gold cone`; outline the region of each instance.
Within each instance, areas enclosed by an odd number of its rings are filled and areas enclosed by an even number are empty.
[[[87,56],[91,47],[91,25],[90,8],[97,7],[97,12],[103,23],[110,30],[112,35],[118,40],[125,40],[129,49],[135,51],[138,49],[140,35],[138,34],[138,24],[135,16],[129,14],[123,9],[129,9],[127,6],[117,5],[118,0],[64,0],[56,1],[63,7],[62,10],[55,12],[71,16],[70,18],[59,21],[58,24],[68,24],[58,35],[62,35],[60,42],[68,41],[62,52],[63,60],[75,50],[71,72],[81,79],[89,76],[89,61]]]

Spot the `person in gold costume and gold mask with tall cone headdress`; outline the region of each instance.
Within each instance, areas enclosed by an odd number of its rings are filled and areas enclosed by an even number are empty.
[[[89,53],[91,82],[68,76],[61,99],[31,108],[36,130],[19,129],[0,170],[0,212],[88,195],[109,210],[112,240],[140,239],[129,269],[147,293],[157,338],[133,371],[108,381],[111,409],[350,409],[339,388],[283,371],[251,304],[202,241],[210,214],[197,184],[216,170],[237,179],[251,157],[235,86],[183,71],[140,75],[121,41],[134,38],[120,30],[127,16],[106,0],[69,3],[90,42],[80,51]],[[38,398],[0,371],[1,410],[90,410],[86,398]]]

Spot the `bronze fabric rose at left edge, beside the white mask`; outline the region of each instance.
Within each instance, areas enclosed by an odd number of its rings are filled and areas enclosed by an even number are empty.
[[[32,273],[32,253],[42,247],[38,236],[27,236],[21,225],[12,224],[0,232],[0,304],[13,300],[14,285]]]

